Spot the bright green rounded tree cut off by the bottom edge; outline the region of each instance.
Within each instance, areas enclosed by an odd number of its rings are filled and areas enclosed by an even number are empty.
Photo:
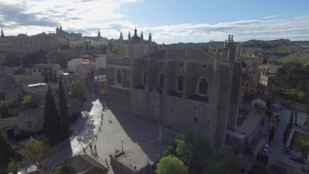
[[[181,160],[174,156],[160,159],[156,169],[157,174],[186,174],[187,168]]]

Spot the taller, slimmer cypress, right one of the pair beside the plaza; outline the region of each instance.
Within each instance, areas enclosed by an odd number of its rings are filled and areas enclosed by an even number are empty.
[[[69,136],[69,114],[66,100],[66,93],[62,80],[59,79],[59,121],[60,121],[60,134],[63,138]]]

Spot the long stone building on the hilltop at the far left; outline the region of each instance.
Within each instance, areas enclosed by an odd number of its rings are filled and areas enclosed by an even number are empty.
[[[33,36],[26,34],[19,34],[18,36],[5,36],[1,32],[0,37],[0,50],[15,51],[18,53],[26,54],[43,51],[57,50],[57,39],[46,33],[41,33]]]

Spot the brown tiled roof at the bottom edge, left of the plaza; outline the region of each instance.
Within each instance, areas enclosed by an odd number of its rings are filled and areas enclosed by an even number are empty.
[[[78,155],[65,162],[74,169],[74,173],[103,173],[109,170],[89,155]]]

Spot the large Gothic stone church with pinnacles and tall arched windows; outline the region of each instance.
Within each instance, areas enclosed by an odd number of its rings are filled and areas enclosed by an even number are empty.
[[[120,33],[119,55],[107,46],[107,100],[147,121],[191,131],[224,143],[226,129],[235,130],[240,98],[242,55],[233,36],[223,48],[157,50],[151,33]],[[220,61],[221,60],[221,61]]]

